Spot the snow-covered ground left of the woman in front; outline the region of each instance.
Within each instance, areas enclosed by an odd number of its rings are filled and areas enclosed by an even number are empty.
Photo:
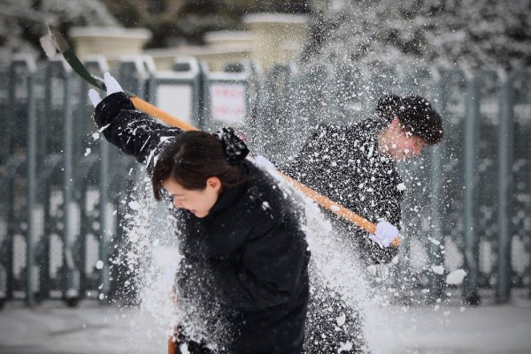
[[[74,309],[59,302],[33,309],[7,305],[0,312],[0,353],[163,353],[164,343],[148,333],[154,328],[149,316],[140,318],[138,310],[94,303]]]

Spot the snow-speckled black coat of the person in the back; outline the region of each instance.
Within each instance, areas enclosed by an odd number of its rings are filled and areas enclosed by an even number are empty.
[[[375,119],[350,126],[319,124],[296,159],[281,169],[370,222],[383,219],[399,227],[404,184],[396,162],[378,153],[377,136],[385,126]],[[366,263],[389,262],[396,255],[396,247],[382,249],[365,230],[331,217],[347,229],[348,242]]]

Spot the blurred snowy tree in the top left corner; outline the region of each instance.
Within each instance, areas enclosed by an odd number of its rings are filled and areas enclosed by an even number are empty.
[[[100,0],[4,0],[0,6],[0,64],[13,53],[43,55],[39,38],[49,22],[63,33],[71,26],[118,26]]]

